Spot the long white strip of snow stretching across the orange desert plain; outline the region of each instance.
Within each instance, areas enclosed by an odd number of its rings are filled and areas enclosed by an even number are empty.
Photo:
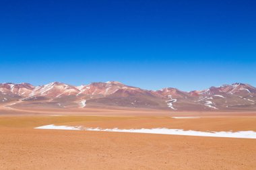
[[[207,136],[207,137],[223,137],[223,138],[256,138],[254,131],[238,131],[238,132],[201,132],[195,130],[168,129],[168,128],[152,128],[152,129],[102,129],[102,128],[83,128],[82,126],[56,126],[54,124],[40,126],[36,129],[53,129],[53,130],[88,130],[100,132],[131,132],[146,134],[172,134],[183,136]]]

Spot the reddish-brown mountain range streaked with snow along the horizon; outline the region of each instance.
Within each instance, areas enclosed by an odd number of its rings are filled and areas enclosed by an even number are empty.
[[[255,111],[256,88],[233,83],[196,91],[164,88],[157,91],[117,81],[73,86],[53,82],[0,83],[0,104],[34,108],[148,108],[170,111]]]

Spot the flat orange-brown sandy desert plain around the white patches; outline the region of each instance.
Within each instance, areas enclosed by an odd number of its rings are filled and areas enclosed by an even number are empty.
[[[256,131],[256,114],[0,107],[0,169],[256,169],[255,139],[34,129],[47,124]]]

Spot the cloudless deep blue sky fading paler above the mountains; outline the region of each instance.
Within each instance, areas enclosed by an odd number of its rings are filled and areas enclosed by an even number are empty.
[[[0,4],[0,82],[256,86],[256,1]]]

